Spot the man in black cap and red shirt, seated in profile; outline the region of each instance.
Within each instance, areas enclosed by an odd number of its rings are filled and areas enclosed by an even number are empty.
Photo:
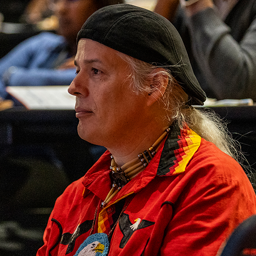
[[[108,150],[56,201],[37,256],[215,256],[256,196],[216,117],[191,106],[205,94],[179,34],[121,4],[77,41],[78,132]]]

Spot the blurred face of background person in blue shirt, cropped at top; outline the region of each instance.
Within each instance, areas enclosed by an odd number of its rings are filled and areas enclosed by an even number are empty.
[[[67,40],[75,40],[84,22],[97,10],[94,0],[53,0],[53,2],[54,13],[59,20],[57,32]]]

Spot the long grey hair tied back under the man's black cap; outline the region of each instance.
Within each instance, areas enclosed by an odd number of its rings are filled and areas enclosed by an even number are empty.
[[[188,95],[175,80],[168,67],[156,67],[155,65],[137,60],[126,54],[118,53],[119,56],[127,61],[130,68],[131,89],[140,94],[142,92],[150,93],[149,81],[157,75],[168,77],[168,87],[162,95],[161,100],[164,103],[166,118],[169,123],[176,121],[179,127],[184,128],[187,123],[189,128],[207,141],[213,142],[224,153],[230,155],[237,161],[242,155],[237,150],[237,142],[229,134],[227,125],[213,111],[196,109],[188,104]],[[157,88],[157,86],[156,86]]]

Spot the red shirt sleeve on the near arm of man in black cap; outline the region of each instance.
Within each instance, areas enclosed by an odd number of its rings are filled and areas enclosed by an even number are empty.
[[[229,164],[223,165],[223,173]],[[255,213],[255,194],[245,174],[237,176],[238,181],[212,175],[216,172],[213,165],[197,166],[201,174],[191,176],[174,205],[161,256],[216,256],[236,226]]]

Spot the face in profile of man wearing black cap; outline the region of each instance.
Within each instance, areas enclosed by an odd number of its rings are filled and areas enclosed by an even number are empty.
[[[112,48],[81,39],[75,57],[77,76],[68,88],[76,96],[78,133],[91,143],[118,146],[145,125],[146,97],[129,85],[128,64]]]

